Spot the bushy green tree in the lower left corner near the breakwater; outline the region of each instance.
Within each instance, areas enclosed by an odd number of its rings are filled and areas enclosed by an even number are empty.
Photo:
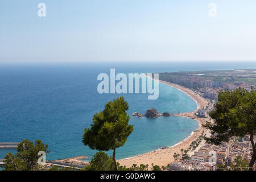
[[[39,151],[47,151],[48,145],[40,140],[32,141],[24,139],[18,144],[17,153],[15,155],[8,153],[5,156],[5,170],[6,171],[32,171],[40,169],[38,164]]]

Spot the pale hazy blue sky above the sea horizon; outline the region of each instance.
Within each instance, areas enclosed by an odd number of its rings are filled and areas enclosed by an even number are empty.
[[[256,61],[255,50],[255,0],[0,0],[0,63]]]

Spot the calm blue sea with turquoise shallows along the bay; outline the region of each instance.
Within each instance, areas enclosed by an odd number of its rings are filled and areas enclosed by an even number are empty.
[[[129,158],[160,147],[174,146],[199,127],[196,121],[182,117],[137,118],[156,108],[160,113],[188,112],[197,108],[195,101],[179,90],[159,84],[158,100],[147,94],[99,94],[99,73],[152,73],[216,69],[256,68],[255,63],[76,63],[76,64],[5,64],[0,65],[0,142],[40,139],[51,152],[47,159],[97,152],[81,142],[93,114],[106,102],[125,97],[134,131],[117,159]],[[0,159],[14,149],[0,149]],[[109,155],[112,151],[107,152]]]

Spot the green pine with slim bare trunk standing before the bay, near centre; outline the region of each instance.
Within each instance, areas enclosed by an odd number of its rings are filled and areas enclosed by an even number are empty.
[[[84,129],[82,142],[86,146],[100,151],[114,150],[115,170],[115,148],[123,146],[133,131],[133,125],[129,125],[130,117],[126,113],[128,109],[129,106],[123,97],[110,101],[103,111],[93,115],[90,129]]]

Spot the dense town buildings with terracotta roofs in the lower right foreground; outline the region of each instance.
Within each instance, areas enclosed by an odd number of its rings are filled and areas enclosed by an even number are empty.
[[[256,137],[254,137],[256,140]],[[190,159],[180,159],[169,166],[170,171],[211,171],[217,169],[217,164],[223,164],[229,169],[230,164],[234,163],[237,156],[242,156],[248,162],[251,159],[252,146],[249,136],[243,138],[232,138],[229,142],[223,142],[216,146],[205,143],[198,151],[194,151]],[[216,154],[216,160],[212,160]]]

